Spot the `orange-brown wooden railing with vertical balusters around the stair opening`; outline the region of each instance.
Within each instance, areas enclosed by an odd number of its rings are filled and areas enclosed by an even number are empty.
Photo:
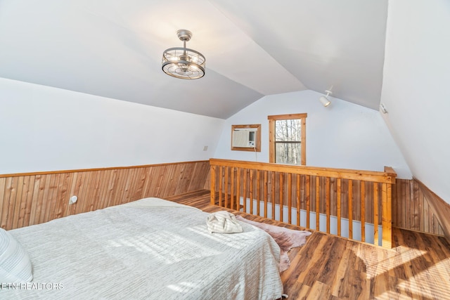
[[[380,172],[226,159],[210,159],[210,166],[211,204],[392,247],[397,174],[390,167]]]

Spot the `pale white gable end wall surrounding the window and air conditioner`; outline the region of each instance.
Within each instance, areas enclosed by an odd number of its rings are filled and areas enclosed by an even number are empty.
[[[226,119],[214,157],[269,162],[268,115],[307,112],[307,165],[383,171],[393,167],[399,178],[411,171],[380,112],[332,98],[328,107],[321,93],[299,91],[266,96]],[[261,152],[231,151],[232,124],[261,124]]]

